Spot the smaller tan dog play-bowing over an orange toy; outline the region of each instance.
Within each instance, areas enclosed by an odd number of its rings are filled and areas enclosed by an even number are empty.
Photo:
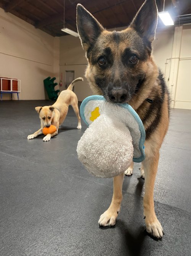
[[[47,134],[43,141],[49,141],[51,137],[58,134],[58,128],[63,123],[68,113],[68,106],[71,105],[74,109],[76,117],[78,118],[77,129],[81,129],[81,120],[79,116],[78,109],[78,99],[76,94],[72,91],[74,84],[77,81],[83,81],[83,78],[76,78],[66,90],[60,92],[57,101],[52,106],[36,107],[37,113],[39,113],[40,118],[40,129],[31,135],[28,135],[27,139],[34,139],[42,134],[42,129],[44,127],[50,127],[54,125],[57,127],[57,131],[52,134]]]

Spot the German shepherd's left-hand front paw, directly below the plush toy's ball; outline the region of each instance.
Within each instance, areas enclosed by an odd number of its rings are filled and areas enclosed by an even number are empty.
[[[105,211],[99,218],[99,226],[114,226],[118,213],[118,211],[112,211],[109,209]]]

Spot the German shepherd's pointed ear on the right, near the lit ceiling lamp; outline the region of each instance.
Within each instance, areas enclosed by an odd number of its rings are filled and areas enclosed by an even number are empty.
[[[141,36],[151,43],[155,38],[158,10],[155,0],[146,0],[130,24]]]

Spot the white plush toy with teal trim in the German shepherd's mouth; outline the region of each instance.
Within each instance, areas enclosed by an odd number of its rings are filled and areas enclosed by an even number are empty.
[[[125,172],[132,161],[144,160],[144,126],[129,104],[89,96],[80,114],[89,127],[78,142],[78,159],[92,175],[111,178]]]

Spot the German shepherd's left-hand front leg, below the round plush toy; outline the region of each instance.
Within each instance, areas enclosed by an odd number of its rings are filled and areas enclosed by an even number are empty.
[[[98,221],[100,226],[114,226],[116,218],[119,214],[121,201],[122,201],[122,185],[123,185],[124,174],[120,174],[113,178],[113,198],[112,202],[101,216]]]

